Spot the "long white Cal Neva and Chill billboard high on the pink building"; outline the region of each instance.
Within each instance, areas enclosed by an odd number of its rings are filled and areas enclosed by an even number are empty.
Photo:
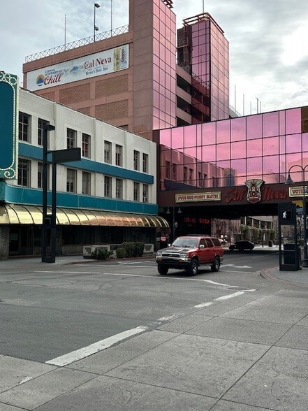
[[[129,68],[129,45],[68,60],[27,73],[27,89],[54,87]]]

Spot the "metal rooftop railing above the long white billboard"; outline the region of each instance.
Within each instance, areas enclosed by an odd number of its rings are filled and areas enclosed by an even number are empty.
[[[112,36],[119,36],[119,34],[124,34],[129,32],[129,24],[126,26],[117,27],[117,29],[112,29],[104,31],[103,33],[95,34],[95,36],[90,36],[82,38],[81,40],[72,41],[71,43],[66,43],[58,45],[57,47],[44,50],[42,52],[34,53],[26,57],[26,63],[34,62],[34,60],[43,59],[43,57],[48,57],[52,55],[57,55],[58,53],[65,52],[67,50],[72,50],[73,48],[78,48],[82,45],[87,45],[94,43],[96,41],[105,40],[105,38],[110,38]]]

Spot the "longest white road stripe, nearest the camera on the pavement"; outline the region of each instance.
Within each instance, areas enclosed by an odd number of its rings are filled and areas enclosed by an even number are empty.
[[[100,352],[103,349],[111,347],[112,345],[119,343],[119,341],[122,341],[125,338],[129,338],[131,336],[135,336],[136,334],[143,333],[144,331],[147,331],[147,329],[147,326],[139,326],[135,329],[123,331],[123,333],[116,334],[115,336],[105,338],[105,340],[98,341],[97,343],[88,345],[87,347],[76,349],[76,351],[72,351],[68,354],[64,354],[58,356],[57,358],[46,361],[46,364],[52,364],[54,366],[59,367],[67,366],[68,364],[83,359],[86,356],[95,354],[96,352]]]

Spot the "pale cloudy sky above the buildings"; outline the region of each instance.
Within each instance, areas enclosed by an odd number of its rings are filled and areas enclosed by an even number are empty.
[[[96,2],[96,34],[129,23],[129,0]],[[308,106],[307,0],[173,0],[173,6],[177,28],[204,11],[223,29],[230,105],[238,113]],[[22,82],[26,56],[93,34],[94,1],[1,0],[0,70]]]

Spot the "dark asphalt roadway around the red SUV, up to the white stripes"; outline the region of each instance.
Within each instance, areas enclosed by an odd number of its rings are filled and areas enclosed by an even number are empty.
[[[277,264],[273,252],[226,252],[218,273],[170,270],[162,277],[152,258],[2,263],[0,354],[46,362],[138,326],[156,329],[218,298],[272,287],[259,273]]]

